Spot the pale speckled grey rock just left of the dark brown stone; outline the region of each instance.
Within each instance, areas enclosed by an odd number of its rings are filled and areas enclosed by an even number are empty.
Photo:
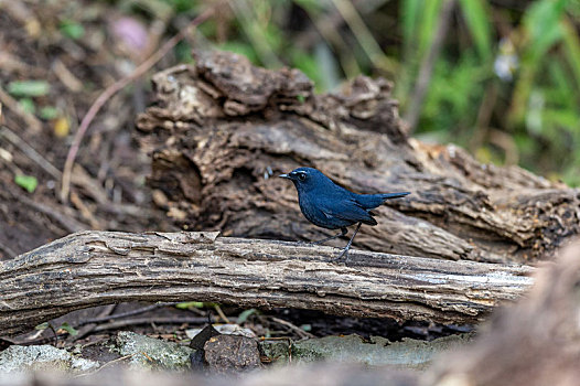
[[[132,355],[131,366],[154,369],[185,371],[191,366],[190,355],[193,349],[173,342],[121,331],[115,342],[116,351],[121,355]]]

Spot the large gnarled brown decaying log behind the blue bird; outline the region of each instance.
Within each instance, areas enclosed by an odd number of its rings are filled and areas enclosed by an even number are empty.
[[[149,183],[155,203],[190,229],[326,236],[302,217],[293,186],[272,179],[310,165],[361,193],[412,192],[377,210],[379,225],[362,227],[358,248],[523,262],[580,230],[578,190],[408,138],[384,79],[358,77],[318,96],[299,71],[212,53],[157,74],[154,84],[157,104],[138,119],[152,153]]]

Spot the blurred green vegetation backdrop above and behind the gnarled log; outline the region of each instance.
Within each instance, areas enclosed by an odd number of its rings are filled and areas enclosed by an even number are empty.
[[[321,93],[358,74],[384,76],[419,139],[580,185],[580,0],[96,3],[149,31],[162,23],[161,40],[218,7],[174,61],[191,61],[193,46],[235,51],[269,68],[298,67]],[[72,4],[60,13],[61,34],[83,39],[89,11]]]

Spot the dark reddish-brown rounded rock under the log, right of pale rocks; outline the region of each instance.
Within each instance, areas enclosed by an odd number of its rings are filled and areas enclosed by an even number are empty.
[[[258,343],[239,335],[211,337],[204,346],[210,371],[229,372],[257,368],[261,365]]]

